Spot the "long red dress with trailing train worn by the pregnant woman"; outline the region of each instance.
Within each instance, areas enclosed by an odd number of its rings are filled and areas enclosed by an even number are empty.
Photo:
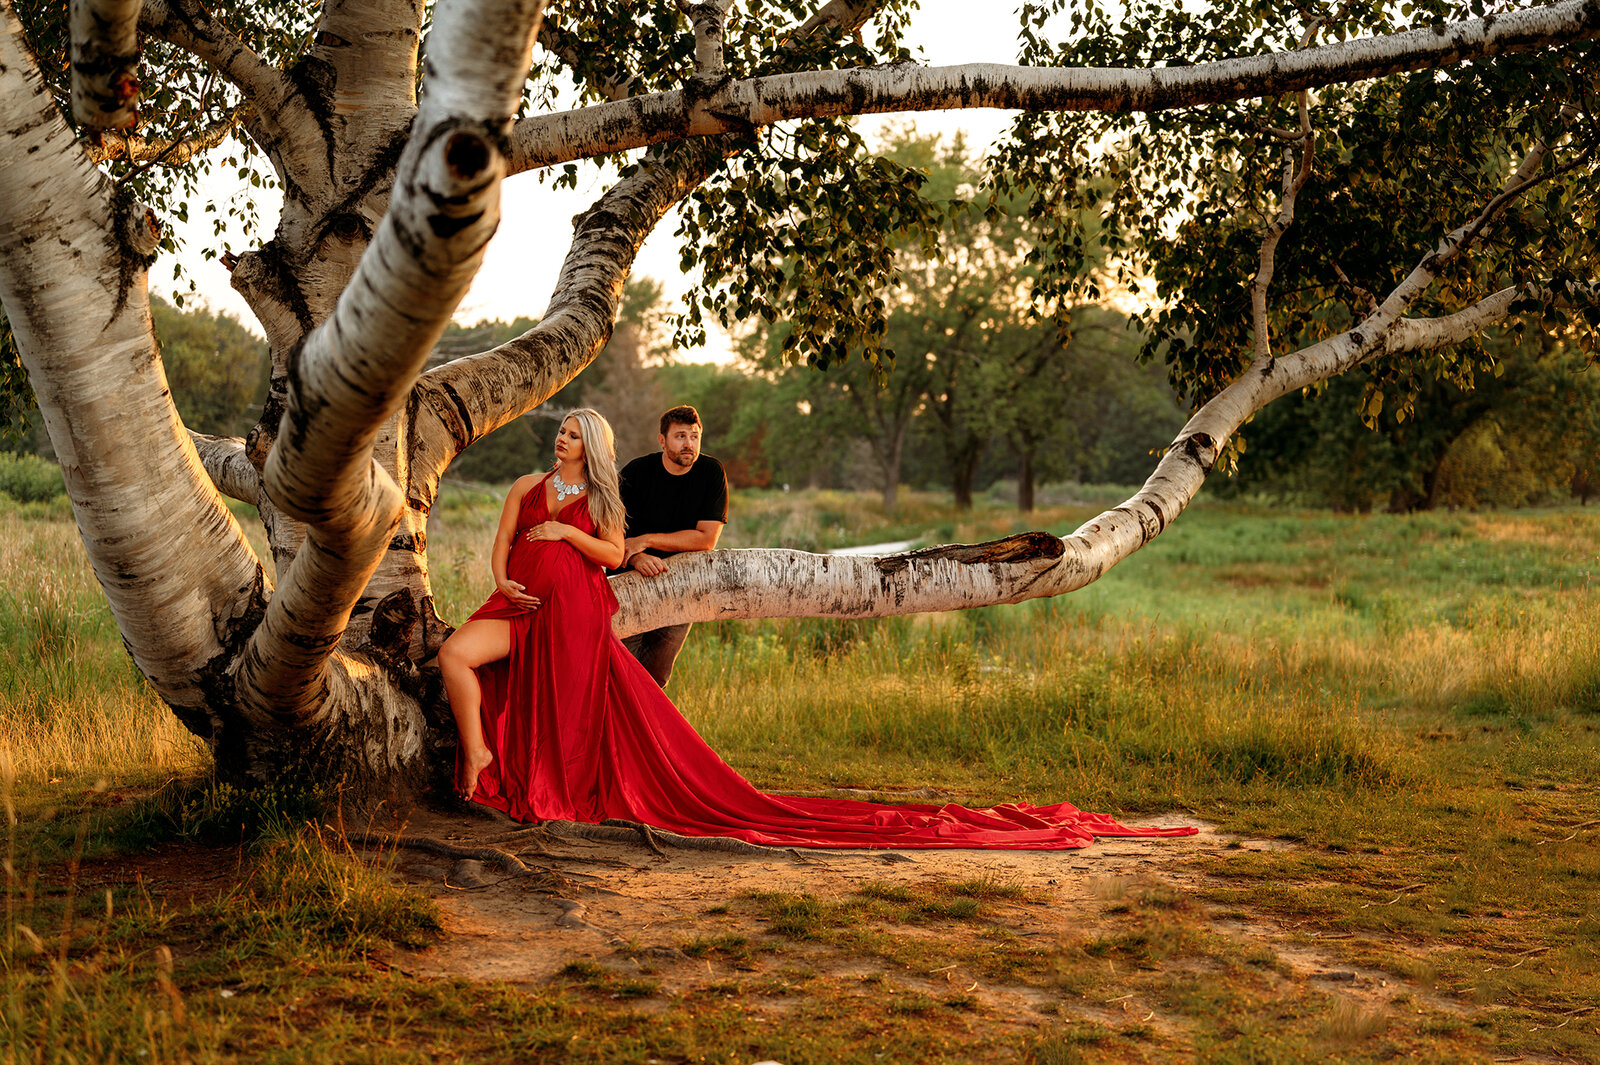
[[[546,520],[544,481],[523,499],[506,572],[542,606],[501,592],[472,614],[510,619],[510,656],[478,668],[483,737],[494,761],[474,800],[517,820],[638,820],[691,836],[814,848],[1083,848],[1094,836],[1178,836],[1130,828],[1069,803],[990,809],[888,806],[766,795],[706,745],[611,632],[605,574],[560,540],[522,532]],[[594,532],[587,499],[557,520]]]

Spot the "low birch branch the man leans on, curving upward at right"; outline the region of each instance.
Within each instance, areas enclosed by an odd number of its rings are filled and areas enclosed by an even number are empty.
[[[696,552],[669,560],[666,574],[613,579],[618,635],[730,617],[882,617],[965,609],[1062,595],[1093,584],[1155,539],[1189,505],[1222,446],[1245,419],[1290,392],[1382,355],[1459,342],[1502,320],[1518,299],[1594,297],[1522,286],[1438,320],[1405,320],[1405,309],[1477,241],[1517,195],[1538,184],[1549,154],[1534,146],[1499,195],[1446,233],[1389,296],[1354,328],[1280,358],[1258,358],[1206,401],[1173,440],[1144,486],[1126,502],[1058,539],[1024,532],[979,545],[936,547],[888,558],[803,552]]]

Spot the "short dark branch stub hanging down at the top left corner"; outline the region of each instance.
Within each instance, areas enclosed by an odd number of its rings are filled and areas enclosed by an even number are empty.
[[[139,117],[139,0],[72,0],[72,117],[126,130]]]

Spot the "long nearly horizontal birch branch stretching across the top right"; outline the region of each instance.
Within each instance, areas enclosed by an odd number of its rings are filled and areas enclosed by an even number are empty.
[[[1403,70],[1600,37],[1600,0],[1448,22],[1389,37],[1245,56],[1190,67],[1085,69],[891,64],[811,70],[522,118],[512,173],[664,141],[747,131],[789,118],[1003,107],[1029,110],[1166,110],[1362,82]]]

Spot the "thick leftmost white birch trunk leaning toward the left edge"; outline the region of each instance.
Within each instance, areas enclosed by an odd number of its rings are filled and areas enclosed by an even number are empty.
[[[139,672],[194,731],[270,588],[166,393],[154,217],[118,205],[0,6],[0,299],[94,574]]]

